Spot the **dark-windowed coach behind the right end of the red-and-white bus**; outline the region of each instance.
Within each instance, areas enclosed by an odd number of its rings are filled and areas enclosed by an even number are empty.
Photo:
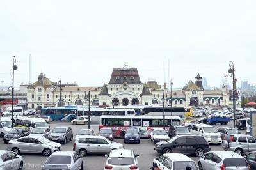
[[[165,116],[179,116],[183,118],[185,116],[184,107],[144,107],[141,114],[147,116],[163,116],[163,111]]]

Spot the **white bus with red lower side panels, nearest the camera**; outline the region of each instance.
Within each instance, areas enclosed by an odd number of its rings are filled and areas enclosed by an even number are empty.
[[[165,116],[165,128],[163,116],[101,116],[101,128],[112,128],[114,137],[124,137],[127,128],[136,128],[140,137],[150,137],[152,128],[164,128],[166,132],[170,125],[179,125],[179,116]]]

